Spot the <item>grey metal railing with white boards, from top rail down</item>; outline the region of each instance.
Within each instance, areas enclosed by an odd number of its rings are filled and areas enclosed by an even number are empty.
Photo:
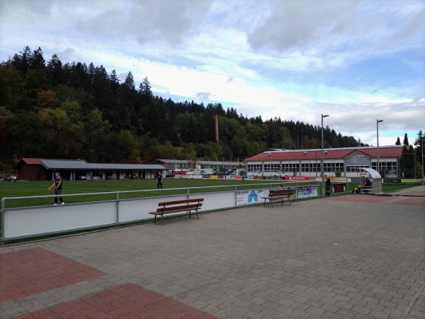
[[[1,199],[1,241],[149,222],[153,219],[149,211],[156,211],[159,198],[164,197],[175,200],[203,197],[205,200],[200,213],[260,204],[260,201],[248,203],[243,197],[244,194],[261,193],[279,184],[303,189],[300,196],[305,196],[306,187],[318,186],[319,183],[317,181],[285,183],[273,180],[261,184],[69,194],[62,195],[67,204],[57,206],[52,205],[52,198],[55,196],[51,195],[5,197]],[[70,198],[73,201],[70,201]],[[50,203],[46,204],[47,201]]]

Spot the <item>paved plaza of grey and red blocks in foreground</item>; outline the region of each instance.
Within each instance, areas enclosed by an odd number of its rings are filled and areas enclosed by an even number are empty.
[[[425,318],[425,188],[0,247],[0,318]]]

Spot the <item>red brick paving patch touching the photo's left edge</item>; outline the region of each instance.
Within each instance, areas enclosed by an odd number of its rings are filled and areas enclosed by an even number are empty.
[[[43,248],[0,254],[0,303],[105,275]]]

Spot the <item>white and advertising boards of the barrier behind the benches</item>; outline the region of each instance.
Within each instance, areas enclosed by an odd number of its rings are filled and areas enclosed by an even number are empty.
[[[315,197],[318,195],[317,184],[312,185],[312,183],[310,183],[310,186],[300,185],[304,183],[291,184],[293,185],[285,185],[285,188],[295,189],[296,198]],[[245,186],[253,186],[253,189],[238,190],[237,186],[227,186],[232,187],[233,189],[231,191],[216,191],[202,194],[190,194],[191,189],[181,189],[186,190],[187,194],[120,199],[120,194],[130,193],[130,191],[122,191],[109,193],[116,194],[116,199],[113,201],[94,201],[88,203],[19,208],[6,208],[6,203],[8,203],[8,201],[16,200],[30,201],[33,198],[51,198],[52,196],[2,198],[1,241],[4,242],[5,240],[14,240],[23,237],[66,233],[89,228],[102,228],[106,226],[124,225],[126,223],[153,220],[152,215],[149,215],[149,212],[156,211],[158,203],[160,201],[164,201],[165,198],[167,201],[204,198],[200,213],[235,208],[237,206],[260,204],[263,203],[263,201],[259,198],[259,194],[263,194],[263,192],[266,192],[267,194],[268,188],[276,188],[277,183]],[[212,186],[206,188],[215,187],[222,188],[223,186]],[[172,190],[175,191],[176,189]],[[164,189],[164,191],[166,190]],[[103,195],[107,193],[101,194]],[[74,194],[67,195],[67,197],[87,195],[98,194]],[[181,213],[174,213],[170,215],[181,215]]]

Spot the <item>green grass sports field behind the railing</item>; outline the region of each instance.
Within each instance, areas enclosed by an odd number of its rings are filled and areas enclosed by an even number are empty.
[[[102,181],[64,181],[64,201],[66,203],[79,203],[86,201],[106,201],[116,199],[115,192],[120,193],[120,199],[137,198],[146,196],[164,196],[171,194],[187,194],[187,188],[191,188],[191,193],[200,193],[208,191],[229,191],[234,189],[252,189],[253,185],[259,188],[268,188],[273,184],[284,184],[284,186],[295,186],[295,182],[277,181],[277,180],[245,180],[240,179],[164,179],[164,189],[157,189],[156,179],[139,179],[139,180],[102,180]],[[305,185],[305,183],[302,183]],[[316,184],[312,181],[310,184]],[[0,198],[4,197],[24,197],[24,196],[41,196],[40,198],[31,198],[26,200],[7,201],[6,208],[22,207],[22,206],[42,206],[53,203],[54,191],[47,190],[52,185],[52,181],[2,181],[0,182]],[[417,186],[414,183],[402,184],[383,184],[382,191],[388,193]],[[214,187],[213,187],[214,186]],[[356,187],[356,184],[348,183],[348,192]],[[319,187],[321,191],[321,187]],[[113,192],[113,194],[107,194]],[[80,195],[69,196],[70,194],[93,194],[96,195]],[[344,193],[346,194],[346,193]]]

